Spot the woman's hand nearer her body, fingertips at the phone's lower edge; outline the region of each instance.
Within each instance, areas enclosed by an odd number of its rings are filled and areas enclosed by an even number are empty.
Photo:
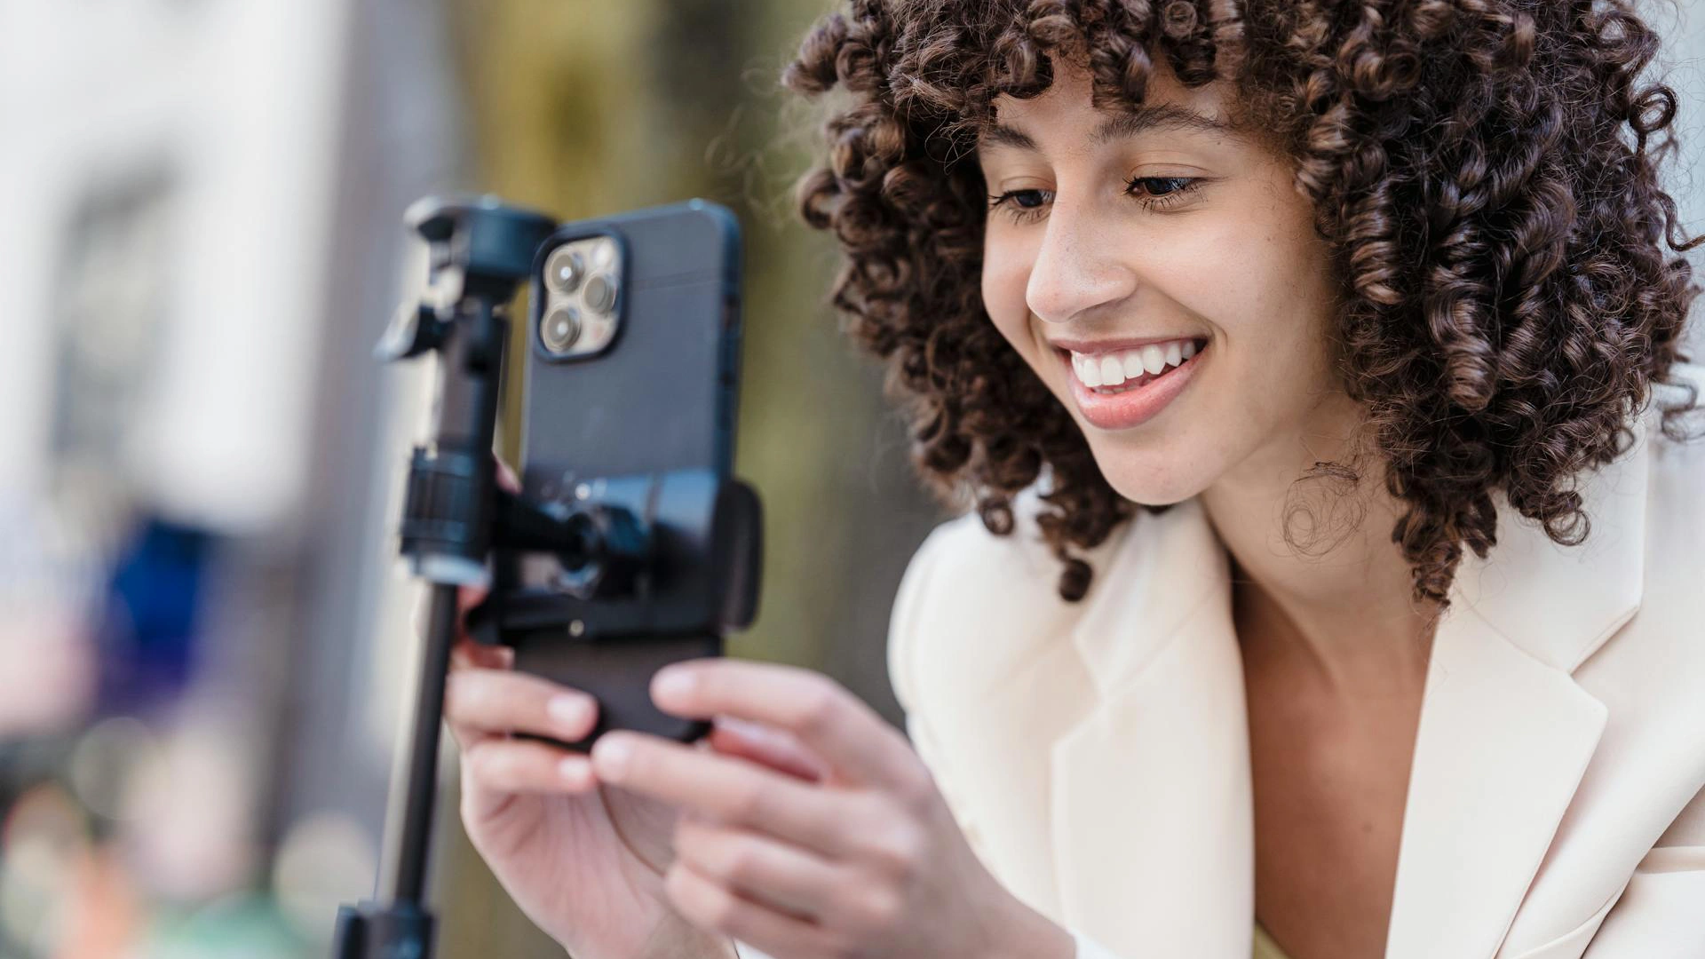
[[[822,764],[801,778],[633,730],[598,739],[602,783],[680,809],[663,882],[697,927],[776,959],[1072,956],[982,867],[905,737],[837,683],[699,659],[658,671],[651,698],[760,724]]]

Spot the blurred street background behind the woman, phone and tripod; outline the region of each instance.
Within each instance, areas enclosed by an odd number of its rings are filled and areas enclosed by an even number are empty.
[[[338,903],[372,892],[430,396],[426,363],[372,346],[421,278],[401,217],[426,193],[738,212],[737,473],[767,558],[730,652],[899,722],[888,604],[943,512],[793,218],[815,121],[776,80],[829,7],[0,0],[0,959],[326,956]],[[1686,7],[1652,15],[1698,230]],[[438,954],[561,956],[462,838],[448,753],[442,782]]]

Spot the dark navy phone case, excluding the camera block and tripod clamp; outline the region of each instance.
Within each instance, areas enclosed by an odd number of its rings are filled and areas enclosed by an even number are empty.
[[[621,331],[590,358],[558,360],[539,340],[542,271],[549,253],[568,241],[612,235],[621,249]],[[573,495],[580,483],[694,471],[692,481],[730,478],[740,358],[740,232],[723,206],[692,200],[563,225],[534,263],[522,437],[522,490],[530,500]],[[685,476],[685,474],[684,474]],[[692,483],[675,488],[694,490]],[[667,512],[668,495],[665,500]],[[689,500],[691,497],[684,498]],[[702,544],[677,543],[677,551]],[[665,549],[670,546],[665,544]],[[633,602],[576,601],[583,635],[564,630],[564,601],[539,596],[523,582],[520,556],[500,556],[498,638],[515,648],[520,671],[547,677],[598,700],[598,724],[576,742],[587,751],[610,729],[634,729],[680,742],[709,732],[704,720],[680,718],[651,703],[651,676],[684,659],[723,654],[723,635],[704,616],[718,580],[680,596]],[[685,587],[684,587],[685,589]],[[634,635],[634,621],[658,633]],[[624,635],[604,635],[621,623]]]

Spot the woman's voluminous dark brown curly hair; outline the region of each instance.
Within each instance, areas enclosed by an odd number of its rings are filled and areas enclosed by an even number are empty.
[[[1047,464],[1037,524],[1076,601],[1091,570],[1069,546],[1134,503],[984,311],[977,135],[997,96],[1047,90],[1055,58],[1115,109],[1161,60],[1187,87],[1229,80],[1313,201],[1345,287],[1337,370],[1405,507],[1415,597],[1442,604],[1463,546],[1495,543],[1494,491],[1581,543],[1575,476],[1628,449],[1650,387],[1685,394],[1661,406],[1673,439],[1698,408],[1673,367],[1700,287],[1662,246],[1705,237],[1678,235],[1659,186],[1676,94],[1642,85],[1657,49],[1625,0],[851,0],[783,82],[846,90],[800,212],[839,239],[832,302],[887,360],[914,466],[1004,536]]]

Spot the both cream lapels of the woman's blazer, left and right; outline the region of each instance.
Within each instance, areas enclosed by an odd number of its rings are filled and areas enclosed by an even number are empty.
[[[1458,570],[1427,667],[1388,959],[1519,945],[1504,935],[1604,727],[1570,672],[1640,601],[1647,432],[1582,476],[1586,544],[1557,546],[1497,497],[1497,546]],[[1253,797],[1229,561],[1195,500],[1120,536],[1071,633],[1098,701],[1052,747],[1062,921],[1115,952],[1243,957]],[[1548,932],[1563,930],[1523,935]]]

